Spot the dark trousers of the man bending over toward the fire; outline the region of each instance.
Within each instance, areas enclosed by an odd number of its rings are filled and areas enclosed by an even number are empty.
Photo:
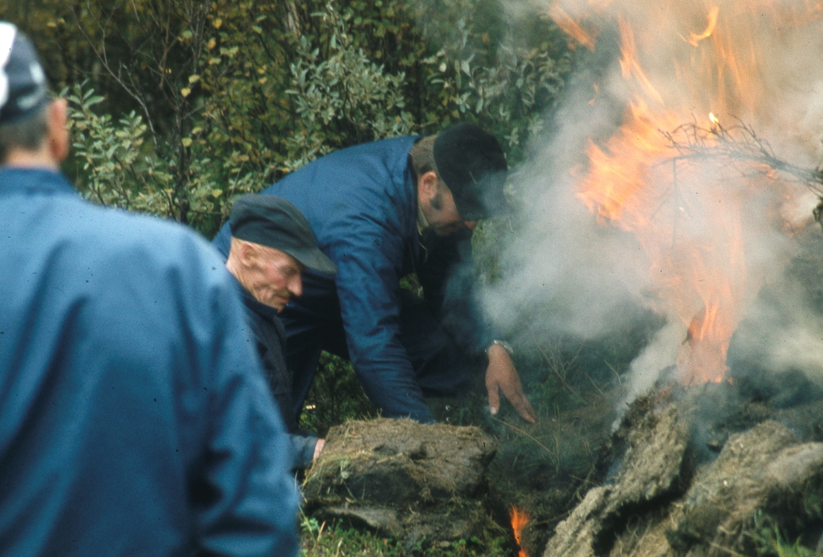
[[[311,292],[311,279],[304,280],[304,296]],[[328,303],[337,302],[328,301]],[[416,383],[424,396],[453,396],[467,389],[472,375],[484,362],[468,355],[444,329],[433,311],[420,297],[401,291],[400,342],[406,348]],[[287,308],[280,316],[286,325],[286,366],[294,373],[293,410],[300,416],[306,395],[325,350],[349,359],[346,334],[340,312],[329,317],[305,306]]]

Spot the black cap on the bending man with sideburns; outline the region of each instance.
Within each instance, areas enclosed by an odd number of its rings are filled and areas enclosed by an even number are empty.
[[[463,219],[486,219],[509,210],[503,195],[508,166],[491,133],[469,123],[449,127],[435,139],[433,154]]]

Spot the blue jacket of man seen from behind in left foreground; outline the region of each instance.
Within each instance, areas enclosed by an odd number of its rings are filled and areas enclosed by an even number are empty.
[[[295,555],[291,459],[219,256],[0,169],[0,555]]]

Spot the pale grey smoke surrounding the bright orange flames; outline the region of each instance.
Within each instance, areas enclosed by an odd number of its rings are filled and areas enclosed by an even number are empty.
[[[487,311],[515,340],[525,334],[600,338],[621,330],[643,310],[665,316],[666,325],[630,366],[630,397],[642,394],[660,371],[675,365],[688,325],[661,304],[659,293],[665,287],[650,272],[658,265],[650,258],[656,253],[671,262],[681,257],[678,250],[687,240],[731,235],[731,230],[704,217],[722,211],[728,196],[736,196],[744,199],[742,219],[730,216],[728,223],[737,227],[734,234],[744,246],[745,265],[737,265],[745,268],[746,279],[736,275],[726,251],[718,248],[709,256],[718,265],[726,260],[732,281],[743,285],[737,296],[746,320],[745,330],[734,339],[741,347],[738,352],[768,362],[775,371],[798,368],[823,378],[823,318],[802,310],[808,308],[802,292],[787,282],[782,296],[765,305],[755,303],[760,288],[777,283],[797,254],[793,234],[809,225],[816,203],[807,188],[772,182],[771,188],[743,194],[748,187],[744,176],[751,175],[752,168],[707,163],[690,174],[691,182],[681,184],[680,199],[661,196],[661,214],[680,210],[686,216],[672,225],[676,232],[661,239],[651,250],[653,255],[630,232],[597,223],[575,197],[587,139],[611,136],[636,94],[644,95],[653,109],[663,109],[658,102],[663,100],[666,107],[690,113],[693,121],[705,121],[707,126],[709,112],[717,113],[724,126],[742,122],[767,140],[766,146],[779,158],[814,168],[821,160],[823,136],[823,19],[807,14],[806,2],[782,2],[769,12],[778,14],[774,21],[761,16],[753,2],[726,0],[719,2],[713,35],[720,40],[695,45],[688,42],[689,34],[699,35],[709,25],[704,2],[621,0],[599,2],[599,7],[594,3],[570,0],[560,6],[575,20],[598,28],[597,48],[613,48],[613,62],[596,75],[591,67],[579,69],[554,115],[551,136],[536,138],[532,159],[516,170],[514,187],[527,200],[526,224],[504,249],[503,267],[509,273],[486,290]],[[552,5],[538,0],[506,3],[514,17],[546,16]],[[789,7],[800,15],[793,18]],[[636,74],[626,78],[617,49],[605,39],[619,34],[617,21],[635,30],[647,89],[638,85]],[[709,72],[714,82],[693,78],[690,68],[710,64],[718,50],[732,44],[739,48],[735,56],[740,59],[727,67],[727,73]],[[729,74],[742,68],[755,75],[746,77],[746,85],[734,85],[732,80],[739,76]],[[598,91],[594,100],[593,82]],[[739,90],[718,105],[718,90],[735,87]],[[741,183],[736,186],[738,177]],[[663,182],[657,186],[660,191],[672,187]],[[700,300],[689,303],[695,314],[700,311]]]

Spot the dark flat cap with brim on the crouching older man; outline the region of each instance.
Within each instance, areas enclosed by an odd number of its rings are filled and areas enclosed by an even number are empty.
[[[337,267],[319,250],[309,221],[282,197],[249,193],[231,207],[231,235],[284,251],[309,269],[337,273]]]

